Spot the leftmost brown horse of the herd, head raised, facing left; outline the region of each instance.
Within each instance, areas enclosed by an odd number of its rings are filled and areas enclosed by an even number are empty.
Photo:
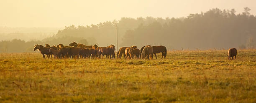
[[[49,53],[50,48],[57,50],[57,48],[55,48],[55,47],[44,47],[43,45],[37,44],[34,46],[34,51],[38,49],[41,52],[41,54],[43,55],[43,58],[45,59],[45,56],[44,56],[45,54],[47,55],[47,58],[49,58],[49,55],[52,54],[52,53]]]

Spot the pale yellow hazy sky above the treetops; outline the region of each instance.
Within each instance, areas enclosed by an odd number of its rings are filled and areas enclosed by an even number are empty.
[[[256,14],[256,0],[0,0],[0,26],[64,27],[122,17],[183,17],[212,8]]]

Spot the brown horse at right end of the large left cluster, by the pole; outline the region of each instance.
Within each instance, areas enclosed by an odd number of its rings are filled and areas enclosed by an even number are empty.
[[[110,57],[110,59],[111,59],[111,55],[113,55],[113,53],[115,53],[115,46],[114,45],[110,45],[108,47],[101,47],[100,50],[99,50],[99,56],[102,55],[102,58],[104,57],[104,55],[106,55],[106,58]]]

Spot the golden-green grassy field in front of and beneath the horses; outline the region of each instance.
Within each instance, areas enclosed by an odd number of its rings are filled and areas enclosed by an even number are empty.
[[[256,50],[169,51],[166,59],[0,54],[0,103],[256,103]],[[159,59],[160,58],[160,59]]]

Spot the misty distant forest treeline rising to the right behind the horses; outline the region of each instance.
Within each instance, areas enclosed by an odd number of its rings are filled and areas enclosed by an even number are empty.
[[[116,45],[118,48],[137,45],[164,45],[168,50],[255,48],[256,16],[244,8],[243,13],[211,9],[205,13],[190,14],[183,18],[121,18],[97,25],[70,25],[43,40],[2,40],[0,53],[33,52],[36,44],[68,45],[73,41],[85,45]]]

